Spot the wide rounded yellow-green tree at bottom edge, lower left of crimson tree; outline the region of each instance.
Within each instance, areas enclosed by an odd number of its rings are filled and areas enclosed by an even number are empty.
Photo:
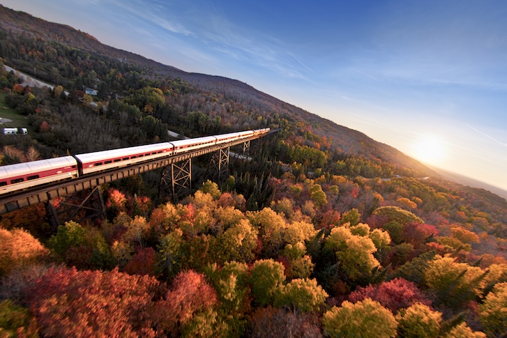
[[[345,300],[322,318],[324,334],[329,337],[388,338],[396,335],[396,320],[379,302],[366,298],[352,304]]]

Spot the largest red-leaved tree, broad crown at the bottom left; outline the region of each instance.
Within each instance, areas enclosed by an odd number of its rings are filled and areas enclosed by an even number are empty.
[[[154,337],[153,298],[159,282],[149,276],[50,268],[27,288],[31,312],[46,337]]]

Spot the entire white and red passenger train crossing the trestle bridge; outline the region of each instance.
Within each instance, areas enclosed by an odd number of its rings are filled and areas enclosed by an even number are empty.
[[[269,128],[245,130],[222,135],[8,164],[0,166],[0,196],[10,192],[27,190],[38,185],[70,180],[96,174],[100,171],[159,160],[209,146],[264,135],[269,131]]]

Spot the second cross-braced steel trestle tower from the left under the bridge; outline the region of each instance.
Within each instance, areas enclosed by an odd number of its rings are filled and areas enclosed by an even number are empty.
[[[192,192],[192,158],[182,162],[172,163],[162,170],[158,195],[169,190],[172,201],[176,202],[179,197]]]

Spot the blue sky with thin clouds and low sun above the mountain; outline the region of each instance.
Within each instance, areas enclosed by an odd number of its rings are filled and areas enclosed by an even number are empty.
[[[507,2],[0,0],[507,189]]]

